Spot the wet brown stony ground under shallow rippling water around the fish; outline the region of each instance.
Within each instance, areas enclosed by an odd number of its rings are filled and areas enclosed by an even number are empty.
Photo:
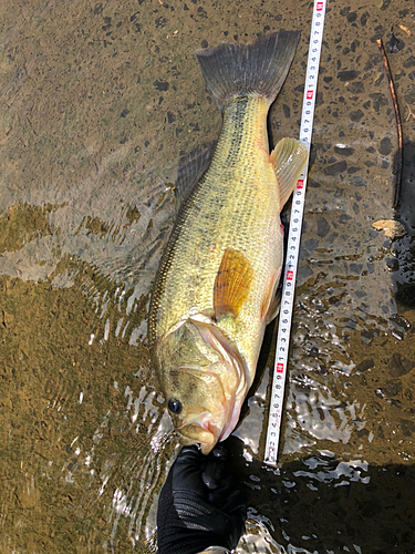
[[[229,443],[251,491],[240,553],[415,552],[409,3],[328,6],[280,466],[262,464],[274,326]],[[0,7],[4,553],[155,551],[177,442],[148,359],[148,295],[179,158],[220,130],[195,50],[302,30],[271,142],[299,132],[311,4],[262,4]],[[375,43],[392,24],[405,138],[397,213],[395,121]],[[406,234],[385,237],[372,228],[381,218]]]

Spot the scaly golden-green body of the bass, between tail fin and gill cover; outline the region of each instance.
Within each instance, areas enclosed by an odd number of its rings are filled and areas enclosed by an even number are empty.
[[[251,345],[260,332],[257,289],[269,285],[281,265],[280,206],[274,171],[269,162],[263,99],[238,99],[225,111],[222,133],[205,178],[187,199],[162,266],[152,329],[157,340],[190,309],[212,310],[214,281],[227,247],[247,255],[257,274],[250,301],[232,332],[250,363]],[[263,249],[264,243],[269,248]],[[178,279],[177,276],[180,276]],[[157,297],[156,297],[157,298]],[[173,309],[172,309],[173,306]],[[220,326],[220,324],[218,324]],[[228,326],[229,327],[229,326]],[[231,330],[227,330],[231,332]]]

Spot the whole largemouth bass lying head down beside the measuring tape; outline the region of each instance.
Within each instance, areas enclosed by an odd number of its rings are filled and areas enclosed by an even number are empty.
[[[197,52],[224,123],[162,257],[149,345],[174,425],[204,453],[236,427],[266,325],[277,315],[280,212],[308,154],[293,138],[270,154],[267,115],[298,40],[298,32],[281,30]]]

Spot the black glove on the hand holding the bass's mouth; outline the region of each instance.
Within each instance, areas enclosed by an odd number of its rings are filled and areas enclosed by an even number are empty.
[[[158,554],[235,548],[246,517],[247,493],[227,471],[225,448],[205,456],[196,445],[184,447],[158,499]]]

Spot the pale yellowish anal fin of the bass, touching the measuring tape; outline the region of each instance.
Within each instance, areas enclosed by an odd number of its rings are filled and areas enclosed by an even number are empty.
[[[271,152],[270,162],[277,174],[281,208],[294,189],[308,155],[307,146],[295,138],[282,138]]]

